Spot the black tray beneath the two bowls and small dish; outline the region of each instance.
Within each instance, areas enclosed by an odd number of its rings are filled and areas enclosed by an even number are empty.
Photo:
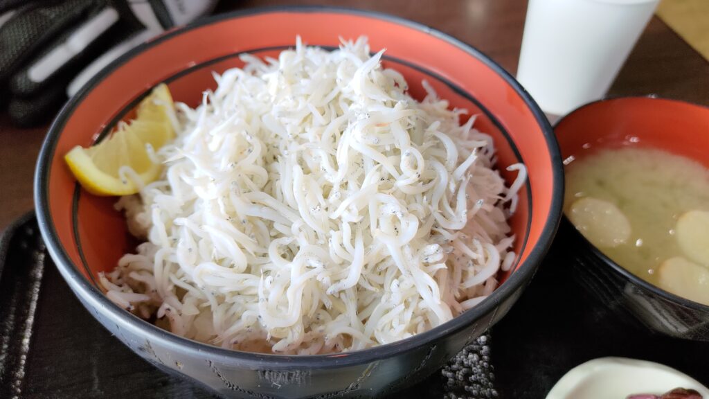
[[[568,250],[552,248],[530,287],[493,327],[491,364],[500,398],[544,398],[570,368],[601,356],[657,361],[709,382],[709,343],[652,335],[616,319],[570,278]],[[444,379],[436,373],[396,397],[442,398]],[[213,395],[157,370],[101,327],[62,280],[28,214],[0,241],[0,398]]]

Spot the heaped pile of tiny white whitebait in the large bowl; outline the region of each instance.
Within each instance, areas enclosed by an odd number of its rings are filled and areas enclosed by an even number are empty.
[[[113,302],[175,334],[282,354],[411,337],[474,307],[510,268],[526,179],[424,82],[417,102],[365,38],[245,55],[123,197],[146,239],[101,276]]]

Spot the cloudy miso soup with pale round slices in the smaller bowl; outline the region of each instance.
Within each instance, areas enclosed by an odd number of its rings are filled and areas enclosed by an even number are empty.
[[[564,213],[635,275],[709,305],[709,169],[652,148],[608,148],[566,165]]]

